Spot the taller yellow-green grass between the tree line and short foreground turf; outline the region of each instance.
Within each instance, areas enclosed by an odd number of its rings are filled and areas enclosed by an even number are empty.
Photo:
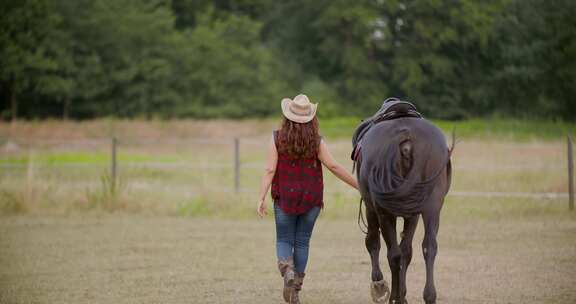
[[[350,168],[349,136],[356,121],[322,121],[332,153]],[[567,191],[563,136],[574,125],[498,120],[438,124],[448,133],[455,125],[460,134],[453,157],[453,193]],[[123,210],[252,216],[262,146],[276,125],[274,120],[0,124],[0,214]],[[109,176],[112,135],[119,138],[114,194]],[[238,194],[233,192],[234,137],[240,138]],[[332,175],[325,176],[328,205],[358,198]],[[557,196],[550,199],[558,201]],[[222,214],[222,209],[227,212]]]

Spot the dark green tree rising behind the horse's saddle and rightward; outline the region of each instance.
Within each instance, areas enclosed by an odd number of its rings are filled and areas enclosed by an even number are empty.
[[[433,117],[472,115],[486,68],[483,54],[501,1],[386,1],[382,6],[394,94]]]

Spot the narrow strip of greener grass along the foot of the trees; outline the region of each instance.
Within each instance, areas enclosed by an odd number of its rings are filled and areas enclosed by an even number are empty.
[[[330,139],[350,138],[361,118],[323,118],[321,132]],[[526,121],[513,119],[471,119],[465,121],[433,120],[446,132],[453,128],[459,137],[488,140],[558,140],[576,134],[576,123],[560,121]],[[194,138],[253,137],[266,135],[278,127],[280,120],[114,120],[92,121],[21,121],[0,122],[0,140],[7,138],[87,139],[109,138]]]

